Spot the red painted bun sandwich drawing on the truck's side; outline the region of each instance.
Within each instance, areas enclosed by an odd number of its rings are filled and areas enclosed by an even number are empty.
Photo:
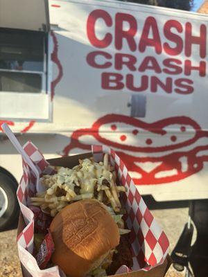
[[[166,184],[204,168],[208,161],[207,137],[208,132],[186,116],[144,123],[129,116],[107,114],[91,128],[73,132],[63,153],[90,150],[92,143],[108,145],[123,159],[135,184]]]

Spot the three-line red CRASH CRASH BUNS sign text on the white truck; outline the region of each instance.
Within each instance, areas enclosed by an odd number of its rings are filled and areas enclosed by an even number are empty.
[[[206,37],[205,24],[93,10],[87,39],[97,50],[86,61],[102,71],[102,89],[187,95],[207,74]]]

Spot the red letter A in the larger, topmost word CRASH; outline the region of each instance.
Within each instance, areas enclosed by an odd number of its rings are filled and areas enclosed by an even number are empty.
[[[149,37],[150,30],[153,33],[153,38]],[[141,39],[139,42],[139,51],[144,53],[146,47],[154,47],[157,54],[162,53],[162,45],[159,37],[159,30],[157,28],[157,21],[154,17],[148,17],[144,23],[144,28],[141,33]]]

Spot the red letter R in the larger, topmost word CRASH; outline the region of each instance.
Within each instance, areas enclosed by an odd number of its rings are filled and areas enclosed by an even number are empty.
[[[123,30],[123,22],[128,22],[129,29]],[[121,50],[123,47],[123,39],[126,39],[128,47],[131,51],[137,50],[137,44],[135,42],[135,35],[137,33],[137,20],[132,15],[127,13],[116,13],[115,19],[116,29],[115,29],[115,47]]]

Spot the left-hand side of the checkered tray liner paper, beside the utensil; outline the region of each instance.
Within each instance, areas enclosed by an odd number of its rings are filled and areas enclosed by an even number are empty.
[[[49,163],[44,159],[42,153],[37,147],[29,141],[24,145],[24,150],[35,164],[40,176],[44,174],[53,174],[54,170],[49,166]],[[17,189],[17,199],[21,208],[21,214],[24,217],[26,227],[17,236],[17,247],[19,252],[19,259],[24,268],[24,276],[29,277],[65,277],[58,267],[51,267],[50,269],[41,270],[33,253],[33,239],[34,239],[34,215],[28,208],[30,204],[30,197],[36,193],[36,178],[35,174],[27,163],[22,161],[23,175],[21,177],[19,187]]]

